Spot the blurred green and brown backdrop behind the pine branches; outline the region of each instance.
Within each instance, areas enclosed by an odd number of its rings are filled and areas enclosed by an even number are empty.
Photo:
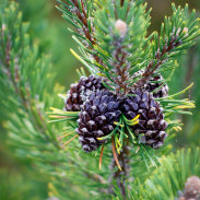
[[[1,1],[1,0],[0,0]],[[75,43],[68,33],[68,24],[55,8],[54,0],[17,0],[24,21],[31,22],[30,34],[32,43],[40,44],[40,51],[51,55],[52,66],[57,74],[56,81],[66,87],[78,80],[75,69],[81,63],[70,54],[70,48],[75,49]],[[170,15],[170,4],[185,5],[196,9],[200,15],[200,0],[148,0],[152,8],[151,33],[160,30],[165,15]],[[170,93],[178,92],[195,82],[195,86],[185,96],[196,101],[197,108],[193,116],[181,117],[185,126],[174,140],[174,149],[180,146],[199,145],[200,141],[200,45],[192,47],[181,59],[175,77],[169,83]],[[178,116],[180,118],[180,116]],[[0,118],[0,200],[42,200],[48,199],[48,177],[40,177],[34,170],[34,165],[21,161],[14,151],[7,144],[9,140],[7,130],[3,129],[3,119]],[[50,199],[49,199],[50,200]]]

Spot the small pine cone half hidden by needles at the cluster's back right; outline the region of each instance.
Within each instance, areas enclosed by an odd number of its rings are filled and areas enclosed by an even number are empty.
[[[136,72],[133,74],[133,77],[137,78],[139,75],[142,75],[143,72],[144,72],[144,70],[139,70],[138,72]],[[163,84],[162,83],[163,80],[164,79],[161,74],[156,74],[153,78],[151,78],[148,81],[148,83],[144,84],[143,90],[151,93]],[[158,81],[158,83],[153,83],[152,81]],[[161,89],[158,89],[156,92],[153,93],[153,97],[155,97],[155,98],[165,97],[167,95],[168,95],[168,85],[167,84],[163,84],[163,86],[161,86]]]

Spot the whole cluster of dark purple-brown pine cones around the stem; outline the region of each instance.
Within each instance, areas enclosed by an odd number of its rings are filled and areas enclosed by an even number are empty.
[[[154,77],[153,79],[162,79]],[[149,85],[149,86],[146,86]],[[125,115],[131,120],[138,115],[139,123],[130,127],[132,132],[144,143],[153,149],[163,145],[166,138],[167,122],[164,120],[163,109],[154,97],[167,95],[167,86],[162,87],[156,94],[151,90],[161,86],[158,83],[148,83],[143,89],[131,91],[131,96],[118,97],[114,92],[105,89],[102,78],[90,75],[81,78],[80,82],[71,85],[66,101],[66,109],[80,110],[77,128],[79,141],[85,152],[92,152],[106,140],[98,138],[108,136],[115,129],[115,121]],[[164,92],[165,91],[165,92]]]

